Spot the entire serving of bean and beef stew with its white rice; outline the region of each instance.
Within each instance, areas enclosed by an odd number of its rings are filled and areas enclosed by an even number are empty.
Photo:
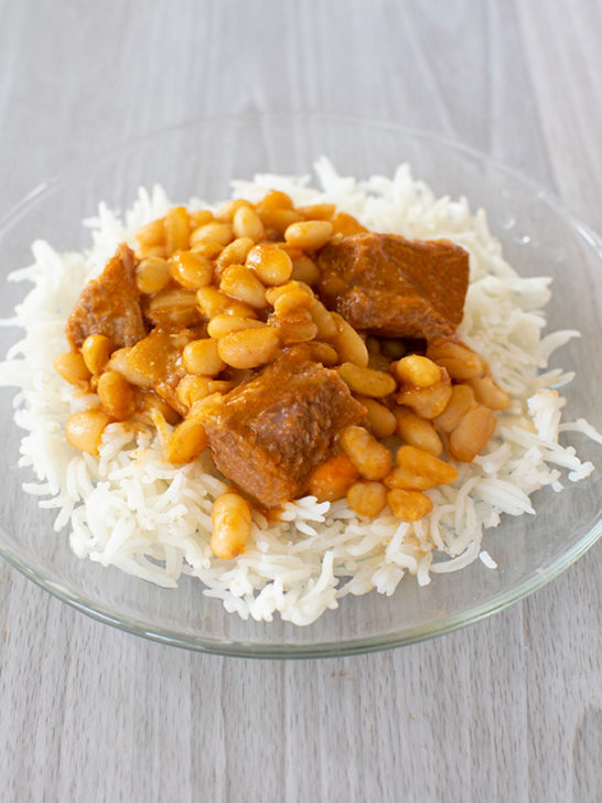
[[[484,212],[407,165],[356,181],[234,182],[235,200],[105,205],[93,247],[33,245],[0,370],[21,387],[25,490],[80,557],[228,611],[308,624],[481,557],[502,514],[593,470],[560,431],[549,279],[504,260]]]

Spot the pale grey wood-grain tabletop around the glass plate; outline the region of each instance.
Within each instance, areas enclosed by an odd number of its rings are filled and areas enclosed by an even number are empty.
[[[602,228],[596,0],[0,0],[0,215],[108,144],[241,110],[492,153]],[[452,635],[297,663],[176,651],[0,566],[0,801],[602,800],[600,546]]]

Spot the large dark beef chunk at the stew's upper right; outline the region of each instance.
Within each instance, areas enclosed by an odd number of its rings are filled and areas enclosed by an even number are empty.
[[[355,234],[326,245],[319,267],[322,301],[355,329],[430,339],[462,320],[469,255],[449,240]]]

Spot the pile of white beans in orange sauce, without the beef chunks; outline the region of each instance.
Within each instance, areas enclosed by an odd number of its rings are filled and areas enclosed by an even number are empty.
[[[287,346],[305,343],[367,410],[365,427],[340,433],[338,453],[313,472],[310,492],[321,501],[346,496],[363,516],[387,504],[400,520],[427,515],[432,503],[424,491],[458,477],[440,456],[471,461],[495,429],[494,410],[509,398],[479,354],[455,338],[406,353],[402,340],[365,336],[326,310],[313,291],[316,254],[365,231],[332,204],[294,207],[277,191],[257,204],[232,201],[215,214],[176,206],[140,228],[136,283],[157,329],[118,350],[93,334],[80,350],[56,357],[65,379],[99,399],[69,417],[69,443],[97,454],[109,422],[152,421],[168,460],[194,460],[206,447],[207,400]],[[153,374],[158,355],[161,375]],[[395,459],[389,447],[399,441],[383,443],[391,436],[401,440]],[[213,523],[215,555],[234,557],[250,531],[248,502],[228,490],[215,502]]]

